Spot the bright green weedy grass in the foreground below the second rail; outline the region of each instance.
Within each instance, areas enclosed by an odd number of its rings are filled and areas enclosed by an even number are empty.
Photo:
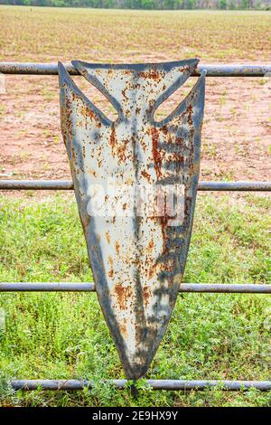
[[[73,198],[0,198],[1,281],[88,281]],[[270,281],[266,197],[198,198],[185,281]],[[0,296],[0,404],[23,406],[270,406],[257,391],[152,392],[138,398],[100,379],[124,377],[96,294]],[[267,380],[270,298],[182,294],[146,378]],[[9,379],[93,379],[92,391],[16,392]]]

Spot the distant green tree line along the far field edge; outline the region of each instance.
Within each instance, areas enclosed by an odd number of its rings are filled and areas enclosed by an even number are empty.
[[[271,0],[0,0],[0,5],[116,9],[270,9]]]

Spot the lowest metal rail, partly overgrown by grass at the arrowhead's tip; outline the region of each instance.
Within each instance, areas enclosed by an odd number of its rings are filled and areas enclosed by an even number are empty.
[[[126,379],[114,379],[104,381],[117,389],[124,389],[126,387]],[[208,388],[219,388],[224,391],[248,391],[255,388],[260,391],[270,391],[271,382],[269,381],[184,381],[184,380],[155,380],[150,379],[146,381],[153,390],[168,390],[168,391],[191,391],[191,390],[206,390]],[[51,390],[51,391],[74,391],[83,390],[84,388],[93,387],[94,382],[79,381],[75,379],[31,379],[31,380],[13,380],[11,382],[14,390],[34,391],[37,389]]]

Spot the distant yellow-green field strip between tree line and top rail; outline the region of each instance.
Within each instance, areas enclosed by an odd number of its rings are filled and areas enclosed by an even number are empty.
[[[0,6],[1,61],[269,61],[266,11]],[[33,37],[33,34],[35,36]]]

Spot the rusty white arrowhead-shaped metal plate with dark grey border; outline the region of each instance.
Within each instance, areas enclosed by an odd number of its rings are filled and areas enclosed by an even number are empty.
[[[60,64],[62,135],[98,299],[126,377],[137,379],[154,358],[182,281],[199,178],[205,74],[156,122],[155,109],[198,60],[72,64],[117,109],[112,122]],[[159,198],[161,211],[150,207],[149,197],[144,201],[143,188]],[[173,213],[165,209],[164,188],[174,191]]]

